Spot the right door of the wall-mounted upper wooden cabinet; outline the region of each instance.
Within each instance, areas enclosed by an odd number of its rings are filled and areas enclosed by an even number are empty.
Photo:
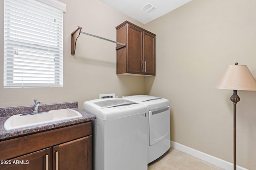
[[[156,75],[156,36],[143,31],[143,61],[144,72],[147,75]]]

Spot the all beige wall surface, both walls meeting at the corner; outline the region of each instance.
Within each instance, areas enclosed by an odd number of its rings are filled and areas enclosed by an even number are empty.
[[[3,88],[0,107],[86,100],[99,94],[150,94],[170,100],[171,140],[232,162],[232,90],[214,89],[227,65],[247,64],[256,76],[256,1],[192,0],[145,26],[98,0],[60,0],[64,14],[64,87]],[[78,4],[75,4],[75,3]],[[0,1],[3,57],[3,1]],[[80,35],[70,55],[70,33],[116,39],[115,27],[129,20],[156,33],[156,76],[117,76],[115,44]],[[3,59],[0,60],[3,84]],[[239,91],[237,164],[256,169],[256,92]]]

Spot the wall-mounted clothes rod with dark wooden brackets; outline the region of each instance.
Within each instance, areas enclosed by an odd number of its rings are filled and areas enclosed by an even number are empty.
[[[103,38],[103,37],[99,37],[97,35],[93,35],[93,34],[90,34],[90,33],[86,33],[86,32],[83,32],[81,31],[82,27],[77,27],[72,33],[71,33],[71,54],[75,54],[75,50],[76,50],[76,40],[77,38],[79,37],[80,33],[83,33],[83,34],[86,34],[86,35],[90,35],[92,37],[96,37],[96,38],[99,38],[99,39],[103,39],[103,40],[106,40],[106,41],[110,41],[112,43],[116,43],[116,44],[119,44],[120,46],[116,47],[116,49],[119,49],[119,48],[122,48],[122,47],[125,47],[126,46],[126,43],[119,43],[119,42],[116,42],[116,41],[112,41],[110,39],[106,39],[106,38]]]

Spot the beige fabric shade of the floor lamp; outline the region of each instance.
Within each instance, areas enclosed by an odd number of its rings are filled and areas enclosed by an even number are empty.
[[[220,77],[215,88],[256,91],[256,80],[246,65],[230,65]]]

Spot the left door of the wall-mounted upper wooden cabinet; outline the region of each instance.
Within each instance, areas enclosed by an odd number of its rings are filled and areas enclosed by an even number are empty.
[[[142,74],[142,30],[128,24],[127,73]]]

